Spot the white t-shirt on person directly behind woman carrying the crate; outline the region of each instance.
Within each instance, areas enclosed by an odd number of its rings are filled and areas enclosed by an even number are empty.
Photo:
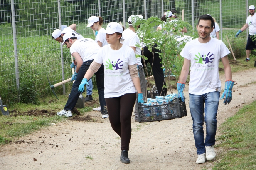
[[[128,45],[129,47],[136,47],[136,44],[140,45],[140,39],[138,35],[129,28],[123,31],[123,38],[125,39],[123,44]],[[141,55],[141,49],[136,47],[135,54]],[[137,57],[136,60],[138,65],[142,65],[141,57]]]

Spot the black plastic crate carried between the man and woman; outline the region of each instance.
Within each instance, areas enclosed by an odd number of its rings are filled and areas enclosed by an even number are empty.
[[[139,122],[152,122],[159,120],[168,120],[187,116],[185,101],[181,98],[175,98],[172,102],[163,105],[145,106],[138,104]]]

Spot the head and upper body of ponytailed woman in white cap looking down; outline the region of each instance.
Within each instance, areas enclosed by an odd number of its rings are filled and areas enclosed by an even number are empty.
[[[104,33],[105,29],[101,27],[103,24],[103,19],[101,17],[91,16],[88,18],[88,25],[86,27],[91,27],[92,30],[98,31],[95,41],[98,43],[99,47],[103,47],[108,45],[106,41],[106,33]]]

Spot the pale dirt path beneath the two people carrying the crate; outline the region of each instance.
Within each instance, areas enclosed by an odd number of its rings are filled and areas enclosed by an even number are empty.
[[[255,82],[255,75],[256,68],[232,75],[237,85],[234,85],[235,92],[229,105],[225,106],[222,103],[223,100],[220,101],[218,125],[234,115],[239,108],[243,107],[243,104],[255,100],[256,83],[245,85]],[[224,76],[221,76],[222,88],[224,81]],[[113,132],[108,119],[102,120],[103,123],[67,120],[20,138],[19,141],[24,140],[20,144],[0,147],[0,169],[197,170],[211,168],[214,163],[212,161],[201,165],[195,163],[197,154],[188,107],[187,87],[185,88],[187,117],[150,123],[136,123],[132,117],[133,132],[129,151],[131,163],[128,165],[119,161],[121,139]],[[90,115],[101,117],[99,112],[91,112]],[[216,152],[218,154],[218,150]]]

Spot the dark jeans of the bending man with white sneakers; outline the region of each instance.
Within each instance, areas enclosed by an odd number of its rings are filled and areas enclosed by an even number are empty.
[[[82,66],[79,69],[79,72],[76,77],[76,81],[74,82],[69,98],[67,100],[67,103],[64,107],[64,110],[73,110],[76,106],[76,102],[79,98],[80,93],[78,92],[79,85],[81,84],[85,73],[87,72],[88,68],[90,67],[93,60],[89,60],[86,62],[83,62]],[[104,97],[104,66],[103,64],[99,68],[99,70],[95,73],[96,82],[97,82],[97,88],[98,88],[98,94],[99,94],[99,103],[101,105],[101,114],[108,114],[106,110],[106,101]]]

